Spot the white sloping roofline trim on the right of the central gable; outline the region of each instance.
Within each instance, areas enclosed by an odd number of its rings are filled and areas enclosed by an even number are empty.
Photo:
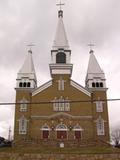
[[[85,93],[86,95],[88,95],[89,97],[91,97],[91,93],[88,92],[85,88],[83,88],[82,86],[80,86],[78,83],[74,82],[73,80],[70,81],[70,85],[75,87],[76,89],[78,89],[79,91]]]

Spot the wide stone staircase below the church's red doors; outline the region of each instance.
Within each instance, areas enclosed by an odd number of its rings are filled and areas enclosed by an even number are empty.
[[[83,140],[55,140],[55,139],[22,139],[14,142],[13,146],[36,146],[36,147],[58,147],[58,148],[76,148],[76,147],[92,147],[92,146],[110,146],[109,143],[102,139],[83,139]]]

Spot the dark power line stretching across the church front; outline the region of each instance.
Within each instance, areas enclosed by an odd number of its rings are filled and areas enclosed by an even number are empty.
[[[106,101],[106,102],[110,102],[110,101],[120,101],[120,98],[116,98],[116,99],[100,99],[100,100],[64,100],[64,101],[39,101],[39,102],[3,102],[0,103],[0,105],[20,105],[20,104],[52,104],[52,103],[93,103],[93,102],[99,102],[99,101]]]

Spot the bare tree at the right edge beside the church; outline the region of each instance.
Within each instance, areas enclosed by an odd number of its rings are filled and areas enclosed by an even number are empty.
[[[111,139],[116,147],[120,145],[120,129],[116,129],[111,133]]]

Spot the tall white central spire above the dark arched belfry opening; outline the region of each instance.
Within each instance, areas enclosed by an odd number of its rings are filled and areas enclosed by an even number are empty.
[[[57,25],[55,40],[53,43],[53,49],[59,49],[59,48],[69,49],[67,35],[65,32],[65,27],[63,23],[63,11],[62,10],[58,12],[58,25]]]

